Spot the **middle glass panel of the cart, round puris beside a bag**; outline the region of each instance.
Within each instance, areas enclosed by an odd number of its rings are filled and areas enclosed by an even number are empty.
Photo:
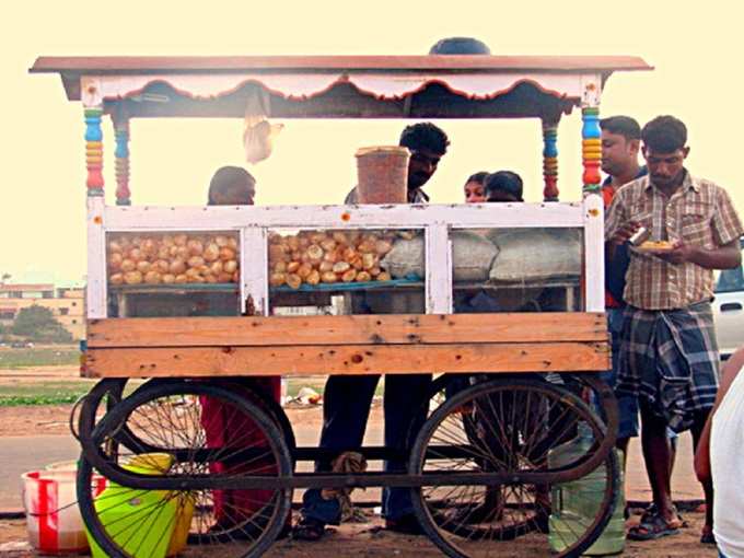
[[[423,232],[272,230],[272,314],[423,313]]]

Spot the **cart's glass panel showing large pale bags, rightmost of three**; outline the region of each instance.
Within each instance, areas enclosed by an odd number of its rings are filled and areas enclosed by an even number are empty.
[[[582,309],[581,229],[458,229],[450,240],[455,313]]]

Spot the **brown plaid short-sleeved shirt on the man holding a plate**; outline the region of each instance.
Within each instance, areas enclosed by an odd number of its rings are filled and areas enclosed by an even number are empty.
[[[682,186],[667,198],[649,176],[623,186],[609,206],[605,239],[627,221],[638,221],[654,241],[683,241],[712,249],[742,234],[742,223],[726,191],[685,172]],[[625,301],[643,310],[684,309],[713,297],[713,271],[689,261],[670,264],[631,249]]]

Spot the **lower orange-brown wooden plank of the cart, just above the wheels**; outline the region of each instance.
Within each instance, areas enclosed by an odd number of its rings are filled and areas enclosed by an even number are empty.
[[[89,349],[91,377],[607,370],[601,342]]]

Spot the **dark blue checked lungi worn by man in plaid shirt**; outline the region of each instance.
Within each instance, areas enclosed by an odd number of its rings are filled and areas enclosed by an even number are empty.
[[[616,391],[639,398],[675,432],[716,402],[719,353],[709,302],[678,310],[627,306]]]

